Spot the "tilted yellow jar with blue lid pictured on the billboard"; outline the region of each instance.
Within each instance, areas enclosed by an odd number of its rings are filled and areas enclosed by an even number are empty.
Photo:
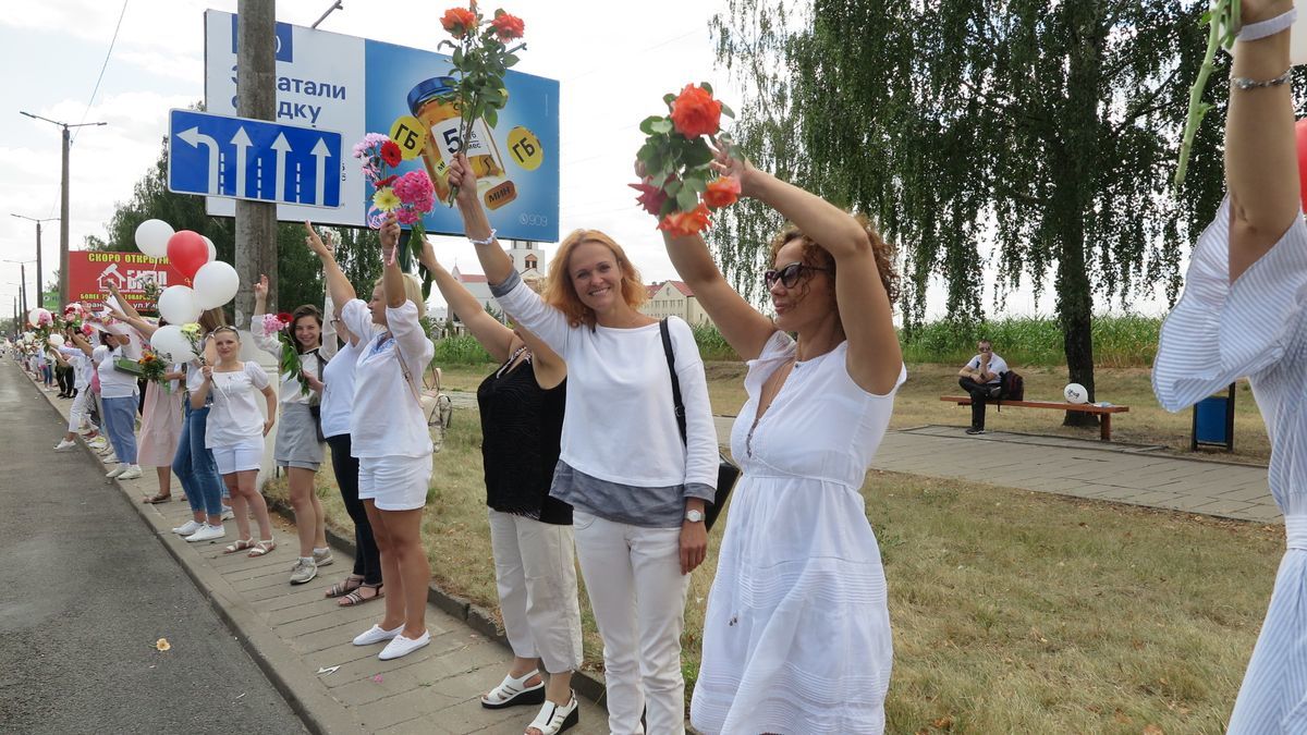
[[[457,84],[454,77],[433,77],[418,82],[408,94],[409,111],[426,127],[422,162],[426,165],[427,175],[431,177],[435,196],[442,201],[450,199],[450,161],[454,160],[461,143],[463,118],[459,115],[455,98]],[[478,119],[472,123],[469,137],[464,152],[477,178],[482,180],[502,178],[503,158],[485,120]],[[511,182],[505,183],[512,186]]]

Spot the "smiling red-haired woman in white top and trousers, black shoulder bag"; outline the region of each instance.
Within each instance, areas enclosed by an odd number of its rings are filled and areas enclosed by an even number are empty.
[[[684,732],[681,629],[689,574],[707,552],[704,504],[715,494],[716,432],[694,336],[669,319],[685,395],[682,443],[656,319],[621,246],[597,230],[567,235],[541,298],[498,247],[465,156],[450,180],[468,238],[514,320],[567,362],[569,390],[550,494],[574,507],[582,574],[604,637],[608,727]],[[637,451],[638,447],[638,451]],[[542,732],[557,732],[557,708]],[[557,725],[555,725],[557,723]]]

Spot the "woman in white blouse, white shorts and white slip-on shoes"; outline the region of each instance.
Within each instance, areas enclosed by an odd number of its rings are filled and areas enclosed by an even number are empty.
[[[386,613],[354,638],[356,646],[386,642],[378,655],[408,655],[431,641],[426,590],[431,568],[422,548],[422,509],[431,481],[431,437],[418,402],[422,373],[435,345],[418,323],[426,313],[422,285],[400,269],[395,248],[400,226],[382,226],[382,279],[363,303],[340,268],[327,269],[332,301],[358,340],[350,451],[358,458],[358,497],[371,521],[382,557]]]

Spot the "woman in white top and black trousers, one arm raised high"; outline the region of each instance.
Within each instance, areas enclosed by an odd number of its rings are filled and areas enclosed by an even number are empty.
[[[358,354],[362,345],[371,341],[371,331],[365,335],[356,335],[340,318],[340,309],[336,303],[344,305],[354,298],[354,288],[345,279],[340,265],[336,263],[333,247],[318,237],[314,226],[305,222],[308,237],[305,242],[308,248],[322,259],[323,272],[328,282],[327,311],[331,316],[328,324],[336,328],[342,344],[332,357],[331,362],[323,368],[322,379],[312,374],[306,374],[308,385],[322,396],[322,426],[327,445],[331,446],[331,466],[336,475],[336,487],[340,488],[341,501],[345,511],[354,522],[354,569],[344,582],[337,582],[327,590],[328,598],[339,598],[337,604],[352,607],[382,596],[382,560],[376,549],[376,536],[372,534],[372,523],[367,519],[367,509],[363,501],[358,500],[358,458],[353,456],[353,442],[349,434],[350,419],[354,413],[354,366],[358,364]],[[345,301],[337,302],[332,297],[331,282],[337,281],[337,290]],[[335,341],[329,331],[327,343]]]

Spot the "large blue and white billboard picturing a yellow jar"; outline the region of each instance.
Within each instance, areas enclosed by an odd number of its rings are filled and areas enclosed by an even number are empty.
[[[205,10],[205,105],[237,114],[237,16]],[[425,169],[444,194],[443,174],[457,144],[457,112],[442,101],[450,58],[352,35],[277,24],[277,122],[340,131],[346,149],[367,132],[421,137],[420,154],[397,171]],[[493,129],[474,128],[468,157],[481,178],[481,200],[501,238],[558,241],[558,81],[508,72],[507,106]],[[358,160],[340,166],[341,205],[278,204],[282,221],[366,226],[372,190]],[[233,216],[230,199],[208,197],[209,214]],[[423,226],[460,234],[457,209],[439,201]]]

